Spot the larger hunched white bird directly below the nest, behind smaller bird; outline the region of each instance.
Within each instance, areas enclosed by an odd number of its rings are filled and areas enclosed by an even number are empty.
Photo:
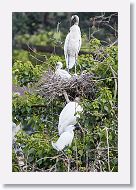
[[[61,135],[67,126],[75,125],[77,123],[77,118],[80,118],[80,112],[83,108],[79,105],[79,98],[77,97],[74,102],[69,102],[63,108],[59,116],[58,131]]]

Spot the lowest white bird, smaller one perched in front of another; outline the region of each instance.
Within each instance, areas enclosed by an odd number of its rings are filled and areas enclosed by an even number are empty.
[[[62,151],[66,146],[71,146],[72,140],[74,138],[74,125],[69,125],[65,128],[65,131],[60,135],[57,142],[52,142],[52,146],[57,151]]]

